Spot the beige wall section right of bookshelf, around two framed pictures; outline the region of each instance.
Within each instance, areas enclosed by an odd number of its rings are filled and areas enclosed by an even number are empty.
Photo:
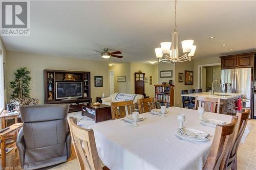
[[[194,60],[177,63],[175,65],[175,90],[174,90],[175,91],[175,104],[174,104],[174,106],[177,106],[177,107],[182,107],[180,91],[194,88],[194,85],[185,85],[184,81],[179,83],[179,79],[178,79],[179,72],[183,73],[183,75],[185,76],[185,70],[194,71]],[[194,74],[195,74],[195,72],[194,72]],[[194,81],[193,83],[195,83],[195,79],[193,81]]]

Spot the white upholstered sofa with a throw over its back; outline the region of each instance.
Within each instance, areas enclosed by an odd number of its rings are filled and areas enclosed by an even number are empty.
[[[134,104],[138,102],[138,99],[143,99],[142,94],[126,94],[126,93],[113,93],[108,98],[102,98],[102,104],[111,105],[111,102],[130,101]]]

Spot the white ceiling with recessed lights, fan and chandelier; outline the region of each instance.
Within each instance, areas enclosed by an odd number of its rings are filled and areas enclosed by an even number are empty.
[[[173,1],[31,1],[30,6],[31,35],[3,36],[9,51],[103,60],[87,54],[108,47],[124,57],[104,61],[144,62],[156,60],[154,48],[171,41],[174,26]],[[195,40],[196,58],[256,50],[256,1],[178,1],[177,10],[179,40]]]

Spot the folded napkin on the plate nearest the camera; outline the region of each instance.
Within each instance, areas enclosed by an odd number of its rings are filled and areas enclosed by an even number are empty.
[[[208,139],[210,137],[209,134],[204,132],[193,132],[186,128],[179,128],[178,133],[186,138],[190,139]]]

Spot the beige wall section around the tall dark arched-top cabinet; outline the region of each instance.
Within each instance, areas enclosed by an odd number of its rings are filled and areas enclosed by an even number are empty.
[[[145,94],[146,96],[150,96],[150,98],[154,97],[154,65],[152,64],[143,64],[143,63],[131,63],[131,91],[135,93],[135,82],[134,82],[134,73],[141,70],[145,73],[145,78],[147,77],[148,82],[145,84]],[[152,85],[150,85],[150,76],[152,76]]]

